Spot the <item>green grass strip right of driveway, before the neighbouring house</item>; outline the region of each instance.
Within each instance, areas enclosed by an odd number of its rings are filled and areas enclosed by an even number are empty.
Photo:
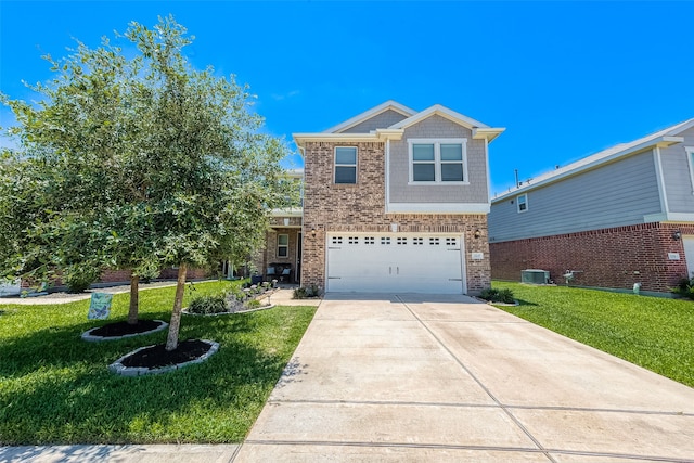
[[[499,307],[571,339],[694,386],[694,301],[493,282],[520,303]]]

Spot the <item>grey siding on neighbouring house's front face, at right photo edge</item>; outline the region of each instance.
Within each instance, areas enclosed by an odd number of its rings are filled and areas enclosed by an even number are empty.
[[[660,150],[668,208],[670,213],[694,213],[694,185],[684,151],[685,146],[694,147],[694,128],[679,137],[684,137],[684,143]]]

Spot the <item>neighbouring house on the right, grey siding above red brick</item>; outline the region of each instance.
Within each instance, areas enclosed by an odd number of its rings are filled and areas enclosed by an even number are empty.
[[[668,292],[694,272],[693,157],[690,119],[493,197],[492,276]]]

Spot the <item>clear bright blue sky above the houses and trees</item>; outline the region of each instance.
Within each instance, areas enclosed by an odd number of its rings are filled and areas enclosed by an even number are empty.
[[[196,67],[235,74],[291,141],[386,100],[439,103],[506,132],[492,193],[694,117],[694,2],[7,1],[0,90],[46,81],[40,56],[174,14]],[[0,125],[12,117],[0,111]],[[300,159],[299,159],[300,163]]]

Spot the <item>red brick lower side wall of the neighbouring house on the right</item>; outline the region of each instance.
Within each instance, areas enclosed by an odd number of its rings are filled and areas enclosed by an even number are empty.
[[[631,290],[641,283],[642,291],[669,292],[687,273],[676,230],[694,234],[694,224],[641,223],[491,243],[491,275],[519,281],[520,270],[541,269],[565,284],[562,274],[577,270],[571,285]],[[668,253],[679,253],[680,260],[669,260]]]

